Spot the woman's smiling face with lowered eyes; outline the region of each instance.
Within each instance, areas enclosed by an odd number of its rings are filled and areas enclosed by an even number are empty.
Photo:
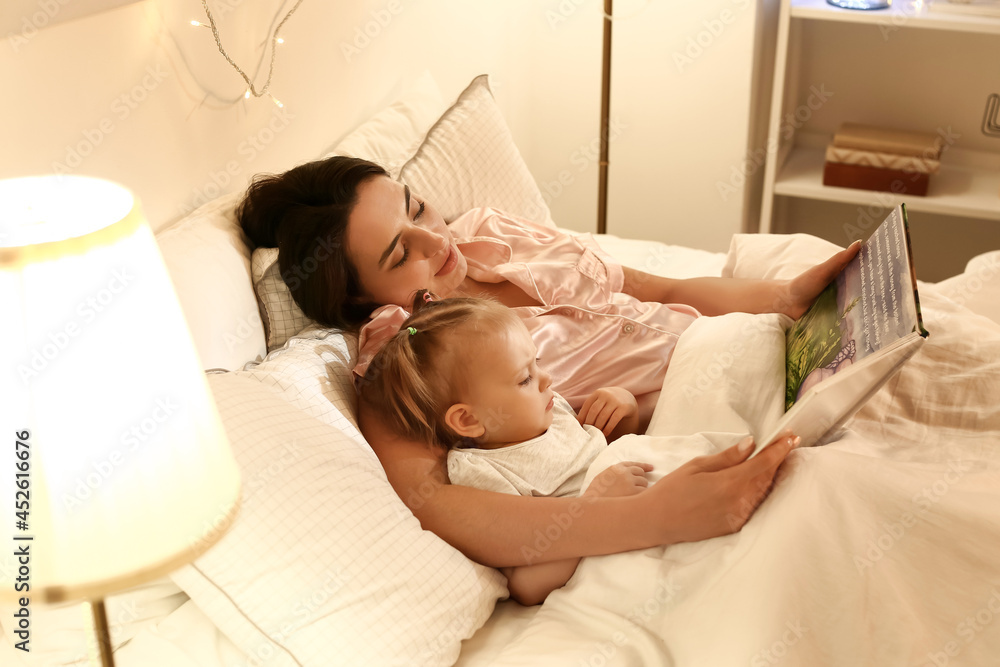
[[[408,307],[420,289],[446,297],[468,270],[440,214],[385,176],[358,187],[345,240],[365,298],[382,305]]]

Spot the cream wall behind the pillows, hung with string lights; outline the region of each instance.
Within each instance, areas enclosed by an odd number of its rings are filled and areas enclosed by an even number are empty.
[[[292,4],[210,3],[244,69]],[[306,0],[282,30],[271,90],[283,109],[243,100],[211,32],[187,23],[204,20],[198,0],[145,0],[37,30],[24,29],[39,27],[37,11],[11,11],[24,3],[5,7],[2,22],[22,29],[0,43],[0,178],[108,178],[136,192],[160,228],[254,173],[317,156],[425,69],[448,99],[490,72],[556,221],[595,227],[596,161],[561,192],[547,186],[597,135],[600,0]]]

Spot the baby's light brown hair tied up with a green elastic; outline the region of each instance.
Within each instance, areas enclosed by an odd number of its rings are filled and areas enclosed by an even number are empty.
[[[429,295],[417,293],[413,314],[372,359],[359,392],[396,433],[453,447],[461,438],[444,417],[460,401],[463,367],[474,354],[459,341],[503,335],[518,318],[492,299]]]

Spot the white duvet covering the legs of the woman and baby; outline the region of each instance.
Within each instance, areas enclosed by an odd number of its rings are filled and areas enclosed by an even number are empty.
[[[780,275],[744,250],[730,274]],[[1000,326],[932,285],[921,299],[927,344],[835,442],[789,456],[742,531],[584,559],[495,664],[998,664]],[[783,383],[769,329],[712,319],[678,343],[656,436],[614,443],[590,476],[633,459],[658,479],[754,430]]]

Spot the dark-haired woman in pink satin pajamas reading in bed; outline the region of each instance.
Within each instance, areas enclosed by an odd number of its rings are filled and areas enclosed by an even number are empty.
[[[455,223],[465,225],[462,231],[477,234],[465,241],[481,240],[480,235],[490,231],[516,233],[518,238],[494,238],[485,251],[480,248],[481,256],[470,260],[428,202],[389,179],[378,165],[343,157],[257,179],[239,210],[241,224],[256,245],[279,249],[285,282],[303,312],[317,322],[357,329],[379,311],[376,321],[388,319],[385,330],[391,332],[394,314],[410,303],[418,289],[429,289],[439,297],[488,294],[517,309],[548,361],[559,364],[564,356],[574,357],[557,376],[571,391],[555,387],[567,398],[573,388],[588,381],[629,388],[606,380],[623,367],[632,370],[633,357],[645,368],[647,385],[659,389],[674,339],[698,312],[774,311],[797,318],[858,248],[855,244],[792,281],[672,280],[618,267],[586,247],[585,240],[510,221],[489,209],[470,215],[475,219],[463,216]],[[553,244],[558,246],[555,251]],[[552,252],[559,255],[554,260],[548,256]],[[518,257],[511,253],[524,254],[530,263],[514,262]],[[476,271],[470,272],[470,262]],[[533,272],[535,266],[542,270]],[[557,274],[560,266],[571,285],[589,290],[588,299],[603,301],[569,306],[549,301],[563,282]],[[570,290],[562,297],[571,302],[575,294]],[[661,305],[668,303],[687,306]],[[655,321],[642,319],[647,316]],[[571,322],[598,322],[605,327],[598,332],[589,328],[597,325],[586,324],[588,328],[577,330],[588,336],[581,346],[562,334]],[[607,322],[626,322],[623,335],[612,340]],[[632,322],[636,325],[629,330]],[[649,332],[646,343],[636,343],[640,336],[624,335],[634,333],[637,325],[644,327],[642,333]],[[378,337],[371,327],[363,332],[368,340]],[[603,350],[588,347],[598,338],[605,341]],[[650,354],[649,340],[661,346],[659,354]],[[600,353],[614,363],[608,361],[595,376],[590,361]],[[648,388],[633,391],[644,398],[640,400],[644,421],[656,397]],[[688,462],[641,494],[582,504],[575,499],[527,498],[451,485],[445,448],[391,433],[364,405],[359,420],[390,483],[423,527],[470,558],[494,567],[733,532],[763,500],[791,449],[791,438],[782,438],[747,460],[752,447],[734,446]]]

